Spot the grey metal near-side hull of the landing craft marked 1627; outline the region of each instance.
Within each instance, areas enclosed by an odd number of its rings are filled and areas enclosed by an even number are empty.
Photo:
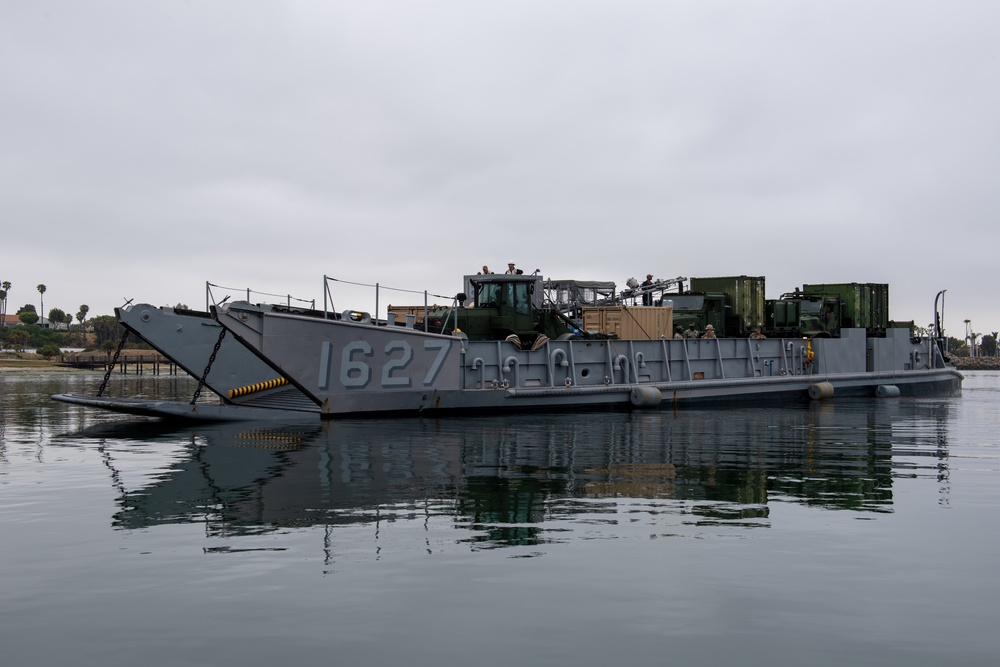
[[[961,392],[962,376],[934,342],[901,329],[885,338],[845,329],[813,340],[550,340],[523,350],[243,302],[213,314],[325,417]]]

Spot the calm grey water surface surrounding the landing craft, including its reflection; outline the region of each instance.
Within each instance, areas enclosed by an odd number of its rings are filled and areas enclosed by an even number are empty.
[[[1000,663],[961,398],[168,427],[0,374],[4,665]],[[195,384],[116,376],[111,395]]]

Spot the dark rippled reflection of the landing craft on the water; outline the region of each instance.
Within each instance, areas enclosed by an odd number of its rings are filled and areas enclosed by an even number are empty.
[[[621,499],[746,525],[768,525],[777,501],[886,512],[894,451],[927,452],[931,443],[946,476],[947,408],[841,401],[203,426],[174,433],[186,443],[181,455],[150,483],[121,488],[114,525],[203,522],[209,534],[234,535],[419,512],[468,529],[459,540],[502,546],[551,539],[546,526],[586,520]]]

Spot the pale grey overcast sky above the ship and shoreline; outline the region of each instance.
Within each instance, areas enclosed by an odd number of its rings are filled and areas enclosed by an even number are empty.
[[[5,0],[8,312],[39,283],[92,316],[206,281],[450,295],[515,261],[886,282],[918,324],[947,289],[949,334],[997,330],[998,25],[996,0]]]

